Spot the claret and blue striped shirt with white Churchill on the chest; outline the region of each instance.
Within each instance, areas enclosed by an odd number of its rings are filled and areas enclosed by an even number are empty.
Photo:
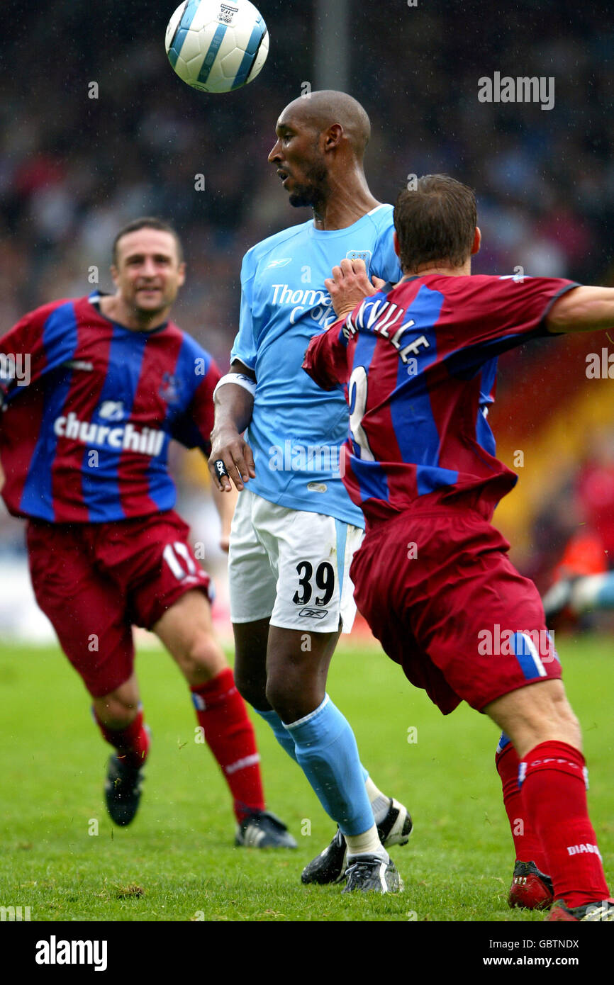
[[[171,321],[134,331],[98,292],[27,314],[0,338],[2,495],[11,513],[104,523],[171,509],[171,438],[209,454],[211,356]]]

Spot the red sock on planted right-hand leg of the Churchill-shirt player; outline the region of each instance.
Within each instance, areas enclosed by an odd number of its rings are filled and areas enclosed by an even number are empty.
[[[264,811],[260,756],[233,671],[227,667],[211,681],[190,690],[198,724],[231,788],[237,820],[253,811]]]

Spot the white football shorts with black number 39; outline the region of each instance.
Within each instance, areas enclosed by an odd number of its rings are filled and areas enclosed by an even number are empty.
[[[233,623],[350,632],[356,605],[350,563],[360,527],[278,506],[242,490],[233,517],[229,587]]]

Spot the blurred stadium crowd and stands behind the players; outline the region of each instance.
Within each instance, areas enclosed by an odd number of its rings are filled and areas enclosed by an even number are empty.
[[[390,201],[409,173],[446,171],[478,191],[484,246],[475,270],[612,282],[614,29],[607,4],[570,0],[454,4],[404,0],[349,11],[348,91],[374,134],[367,173]],[[147,0],[7,0],[0,120],[0,334],[35,305],[109,290],[113,233],[143,214],[171,219],[188,280],[175,320],[228,364],[239,266],[263,236],[307,219],[291,210],[267,154],[282,107],[314,77],[316,4],[261,0],[271,31],[257,82],[206,97],[171,72],[163,47],[174,7]],[[605,15],[605,16],[604,16]],[[341,31],[341,21],[335,24]],[[328,69],[333,70],[334,52]],[[478,79],[553,76],[555,105],[487,104]],[[98,99],[89,99],[97,82]],[[195,190],[195,175],[205,177]],[[607,340],[543,342],[501,361],[491,421],[517,489],[497,513],[514,558],[540,587],[584,522],[579,479],[614,503],[614,404],[585,357]],[[198,455],[173,455],[180,508],[222,585],[216,518]],[[592,469],[592,473],[591,473]],[[204,485],[203,485],[204,484]],[[608,498],[609,497],[609,498]],[[0,512],[0,636],[45,636],[34,609],[23,524]]]

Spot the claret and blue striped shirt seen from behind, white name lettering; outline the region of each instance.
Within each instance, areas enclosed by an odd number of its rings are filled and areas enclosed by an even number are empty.
[[[557,297],[577,287],[545,277],[430,274],[389,285],[311,340],[304,368],[346,388],[350,435],[343,482],[368,522],[457,499],[493,510],[516,476],[495,455],[485,407],[496,360],[547,334]]]

